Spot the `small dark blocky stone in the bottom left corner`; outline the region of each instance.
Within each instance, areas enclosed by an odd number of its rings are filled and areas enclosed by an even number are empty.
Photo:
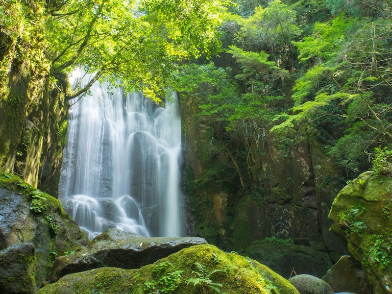
[[[30,294],[36,290],[33,243],[14,244],[0,251],[0,293]]]

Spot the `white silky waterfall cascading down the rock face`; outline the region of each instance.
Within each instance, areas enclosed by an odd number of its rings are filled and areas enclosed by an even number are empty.
[[[90,239],[110,227],[180,236],[181,123],[176,97],[165,107],[142,94],[107,92],[71,106],[59,198]]]

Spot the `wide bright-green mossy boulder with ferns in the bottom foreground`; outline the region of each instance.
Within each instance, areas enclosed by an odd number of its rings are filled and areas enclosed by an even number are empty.
[[[298,294],[268,267],[213,245],[185,248],[138,270],[99,268],[69,274],[38,294],[214,293],[211,286],[227,294]]]

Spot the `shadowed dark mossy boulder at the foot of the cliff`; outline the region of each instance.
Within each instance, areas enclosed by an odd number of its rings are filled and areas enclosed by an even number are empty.
[[[245,255],[289,278],[293,269],[297,274],[307,273],[322,277],[332,266],[329,253],[322,242],[294,245],[292,239],[266,238],[252,243]]]

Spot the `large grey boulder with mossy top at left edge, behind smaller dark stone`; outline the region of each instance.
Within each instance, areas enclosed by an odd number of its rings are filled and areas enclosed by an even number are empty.
[[[10,250],[14,248],[12,245],[34,244],[36,266],[33,271],[37,287],[48,280],[57,255],[79,250],[89,243],[76,222],[64,212],[58,199],[8,173],[0,173],[0,220],[0,250]],[[7,254],[3,257],[8,258]],[[9,281],[15,279],[20,282],[26,277],[25,282],[32,283],[29,275],[20,276],[18,270],[10,270],[6,275],[1,273],[0,280],[5,276]]]

